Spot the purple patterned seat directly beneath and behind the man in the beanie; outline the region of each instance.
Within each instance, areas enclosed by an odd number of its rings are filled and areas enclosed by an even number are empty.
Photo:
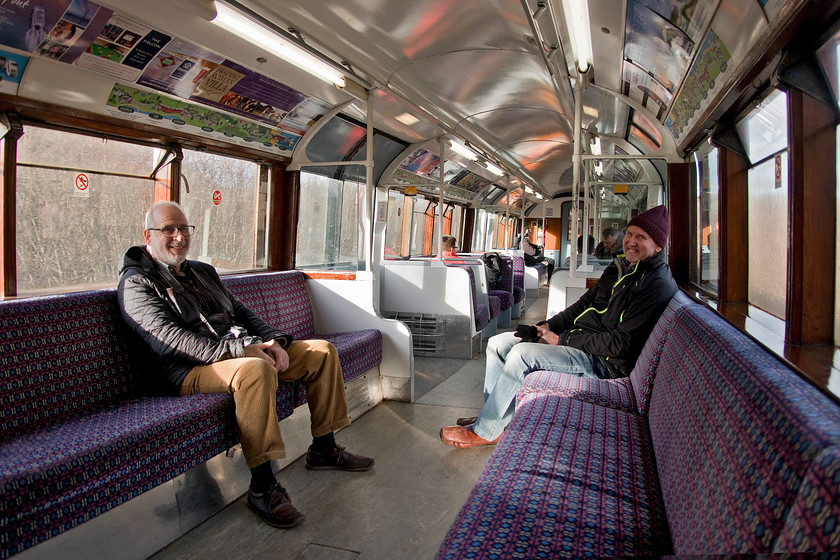
[[[630,377],[593,379],[550,371],[535,371],[525,378],[525,383],[519,389],[516,396],[517,405],[533,394],[549,393],[609,406],[625,412],[647,415],[662,348],[668,340],[674,316],[685,305],[699,304],[693,303],[688,296],[678,291],[671,298],[668,307],[662,312],[662,316],[653,328]]]

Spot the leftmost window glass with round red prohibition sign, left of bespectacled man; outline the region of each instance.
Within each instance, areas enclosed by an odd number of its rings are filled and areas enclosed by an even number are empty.
[[[115,285],[122,255],[143,243],[163,151],[26,126],[17,145],[20,294]],[[168,178],[169,167],[159,172]]]

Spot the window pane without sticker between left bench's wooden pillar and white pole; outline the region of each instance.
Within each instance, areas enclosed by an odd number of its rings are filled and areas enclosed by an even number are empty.
[[[302,171],[297,268],[363,268],[361,212],[365,185]]]

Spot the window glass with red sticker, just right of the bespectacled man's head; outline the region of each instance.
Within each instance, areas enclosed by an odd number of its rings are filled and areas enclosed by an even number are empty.
[[[265,266],[268,166],[184,150],[181,207],[195,225],[190,258],[220,272]]]

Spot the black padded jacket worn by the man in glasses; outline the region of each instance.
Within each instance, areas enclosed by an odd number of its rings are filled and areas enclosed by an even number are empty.
[[[195,366],[245,356],[246,344],[276,339],[283,348],[292,337],[270,327],[224,287],[212,266],[187,261],[188,274],[212,295],[219,312],[207,316],[167,267],[143,246],[126,251],[117,288],[120,312],[147,349],[151,384],[178,394]],[[233,329],[231,327],[241,327]]]

